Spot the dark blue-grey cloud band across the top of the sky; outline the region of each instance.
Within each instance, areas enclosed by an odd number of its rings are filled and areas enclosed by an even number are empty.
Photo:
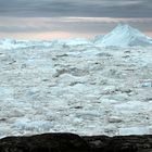
[[[152,17],[151,0],[0,0],[1,16]]]

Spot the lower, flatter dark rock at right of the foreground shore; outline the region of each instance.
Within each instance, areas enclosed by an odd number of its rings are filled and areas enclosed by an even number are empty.
[[[92,152],[152,152],[152,136],[83,137]]]

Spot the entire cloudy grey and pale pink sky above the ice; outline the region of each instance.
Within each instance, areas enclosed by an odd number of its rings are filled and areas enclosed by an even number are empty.
[[[152,37],[152,0],[0,0],[1,38],[92,38],[118,23]]]

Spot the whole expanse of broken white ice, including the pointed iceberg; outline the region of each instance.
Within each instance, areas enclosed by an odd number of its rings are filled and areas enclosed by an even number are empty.
[[[152,134],[149,41],[128,25],[96,42],[1,40],[0,137]]]

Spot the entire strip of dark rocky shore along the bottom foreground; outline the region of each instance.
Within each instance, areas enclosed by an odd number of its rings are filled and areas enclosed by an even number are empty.
[[[43,134],[0,139],[0,152],[152,152],[152,135],[92,136]]]

